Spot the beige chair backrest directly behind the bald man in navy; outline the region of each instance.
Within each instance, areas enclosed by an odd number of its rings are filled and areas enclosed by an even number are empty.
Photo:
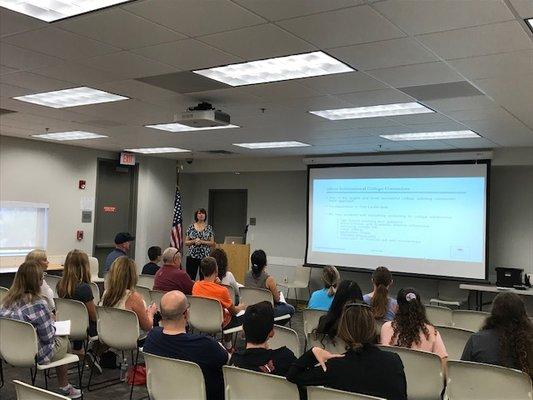
[[[144,353],[146,385],[152,400],[205,400],[205,381],[198,364]]]

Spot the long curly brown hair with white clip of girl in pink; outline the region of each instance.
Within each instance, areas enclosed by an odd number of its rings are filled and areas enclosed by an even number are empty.
[[[420,301],[420,295],[412,288],[400,289],[398,292],[398,311],[392,321],[390,344],[397,342],[400,347],[411,348],[420,344],[420,332],[429,340],[427,325],[431,325],[426,317],[426,308]]]

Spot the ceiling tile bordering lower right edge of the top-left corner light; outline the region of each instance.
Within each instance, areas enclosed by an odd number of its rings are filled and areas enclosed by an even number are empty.
[[[110,8],[57,23],[57,27],[121,49],[150,46],[184,39],[185,35],[140,18],[120,8]]]

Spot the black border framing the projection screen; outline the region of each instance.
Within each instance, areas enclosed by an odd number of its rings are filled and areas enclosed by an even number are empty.
[[[416,274],[413,272],[395,272],[391,271],[396,276],[404,276],[411,278],[423,278],[423,279],[439,279],[455,282],[475,282],[475,283],[488,283],[489,282],[489,225],[490,225],[490,176],[491,176],[491,160],[450,160],[450,161],[409,161],[409,162],[375,162],[375,163],[335,163],[335,164],[308,164],[307,165],[307,205],[306,205],[306,219],[305,219],[305,258],[304,266],[310,268],[323,268],[324,264],[313,264],[307,261],[307,255],[309,251],[309,193],[310,193],[310,178],[312,169],[322,168],[339,168],[339,167],[383,167],[383,166],[405,166],[405,165],[472,165],[472,164],[485,164],[487,168],[486,184],[485,184],[485,278],[462,278],[454,276],[444,275],[428,275],[428,274]],[[351,272],[373,272],[373,268],[361,268],[361,267],[337,267],[341,271]]]

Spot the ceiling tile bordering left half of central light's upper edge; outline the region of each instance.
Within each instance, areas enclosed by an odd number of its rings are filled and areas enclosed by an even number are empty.
[[[178,40],[132,51],[181,70],[210,68],[242,61],[239,57],[224,53],[194,39]]]

